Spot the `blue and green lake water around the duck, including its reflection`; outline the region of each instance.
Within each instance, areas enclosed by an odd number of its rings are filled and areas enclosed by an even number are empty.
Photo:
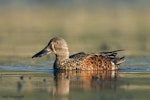
[[[52,61],[0,65],[0,100],[149,100],[150,57],[129,57],[119,72],[55,73]]]

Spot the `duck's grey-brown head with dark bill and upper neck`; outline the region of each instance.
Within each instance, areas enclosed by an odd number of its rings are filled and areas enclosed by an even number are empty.
[[[52,38],[47,46],[40,52],[33,55],[32,58],[42,57],[46,54],[55,54],[57,59],[69,58],[68,46],[66,41],[60,37]]]

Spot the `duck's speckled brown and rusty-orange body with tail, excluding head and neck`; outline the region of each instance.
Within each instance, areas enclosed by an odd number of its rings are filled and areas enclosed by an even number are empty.
[[[117,58],[118,51],[84,53],[80,52],[71,55],[68,60],[58,69],[65,70],[115,70],[118,65],[124,61],[124,57]],[[120,62],[120,63],[119,63]]]

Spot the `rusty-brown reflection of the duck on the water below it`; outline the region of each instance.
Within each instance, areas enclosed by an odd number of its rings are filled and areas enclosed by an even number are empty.
[[[109,89],[111,80],[118,77],[117,71],[57,71],[54,73],[54,96],[69,94],[70,88]],[[61,98],[63,100],[64,98]]]

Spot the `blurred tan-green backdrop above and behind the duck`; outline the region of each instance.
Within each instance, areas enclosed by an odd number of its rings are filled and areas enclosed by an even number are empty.
[[[149,56],[150,0],[0,0],[0,62],[29,59],[55,36],[71,54]]]

